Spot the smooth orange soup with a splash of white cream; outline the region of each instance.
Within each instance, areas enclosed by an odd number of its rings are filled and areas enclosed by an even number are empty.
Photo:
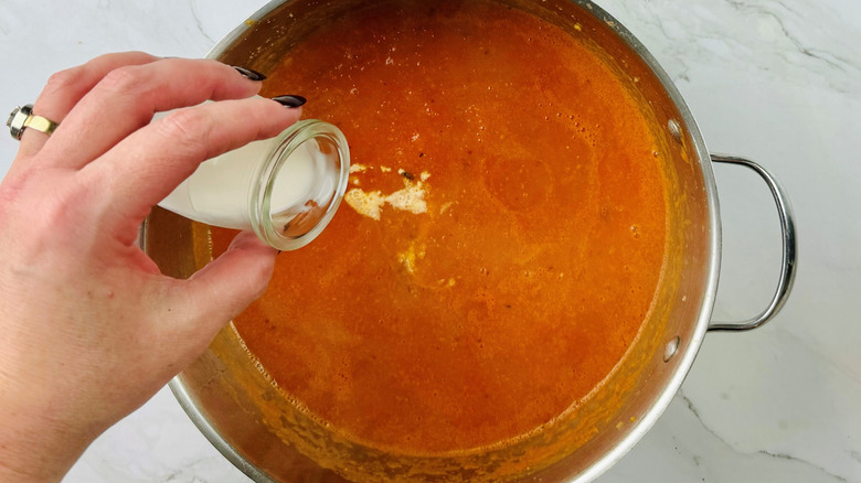
[[[619,363],[661,273],[666,190],[630,79],[486,1],[368,8],[265,95],[339,126],[346,203],[235,320],[310,415],[429,454],[540,431]],[[213,230],[217,254],[233,233]]]

